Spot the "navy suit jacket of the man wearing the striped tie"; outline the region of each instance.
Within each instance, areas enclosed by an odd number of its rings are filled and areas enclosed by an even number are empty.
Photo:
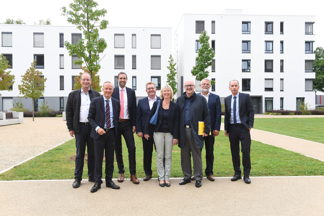
[[[118,127],[119,114],[121,112],[121,105],[119,101],[113,97],[111,97],[111,102],[112,102],[112,112],[114,114],[115,133],[117,137],[117,127]],[[105,109],[106,109],[105,103],[102,95],[92,99],[89,108],[88,120],[92,127],[90,137],[92,137],[93,139],[98,139],[100,137],[100,134],[97,133],[96,128],[98,126],[102,129],[105,127],[105,123],[106,123]]]

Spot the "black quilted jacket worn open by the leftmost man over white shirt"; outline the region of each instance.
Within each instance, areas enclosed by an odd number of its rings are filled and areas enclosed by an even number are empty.
[[[99,97],[100,93],[96,90],[89,89],[90,101]],[[79,122],[80,122],[80,107],[81,107],[81,88],[76,89],[70,92],[69,97],[67,98],[65,116],[66,116],[66,125],[69,131],[74,131],[75,133],[79,132]]]

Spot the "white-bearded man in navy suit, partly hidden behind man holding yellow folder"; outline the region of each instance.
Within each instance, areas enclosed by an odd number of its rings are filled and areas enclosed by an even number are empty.
[[[211,181],[214,181],[214,143],[215,136],[218,136],[220,128],[221,128],[221,118],[222,118],[222,109],[221,109],[221,101],[218,95],[215,95],[209,92],[211,87],[211,83],[209,79],[203,79],[200,83],[200,87],[202,88],[201,93],[197,93],[198,95],[202,95],[206,98],[209,108],[210,114],[210,131],[211,135],[205,136],[205,149],[206,149],[206,169],[205,174],[207,178]],[[191,178],[191,180],[194,180]]]

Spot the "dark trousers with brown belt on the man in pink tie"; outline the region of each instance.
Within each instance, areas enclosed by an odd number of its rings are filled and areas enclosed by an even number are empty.
[[[118,166],[118,172],[124,173],[124,162],[122,159],[121,135],[124,137],[128,149],[129,172],[131,175],[136,174],[135,160],[135,141],[131,121],[118,122],[118,131],[116,137],[115,153]]]

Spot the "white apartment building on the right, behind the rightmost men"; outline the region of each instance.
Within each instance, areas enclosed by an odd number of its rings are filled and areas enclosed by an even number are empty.
[[[172,54],[177,63],[179,94],[186,79],[193,79],[199,36],[210,36],[215,51],[207,70],[215,80],[212,92],[221,97],[231,94],[229,81],[239,81],[240,92],[249,93],[255,113],[271,109],[299,109],[298,102],[315,108],[313,91],[313,24],[315,16],[243,15],[242,10],[225,14],[184,14],[174,34]],[[305,48],[305,49],[304,49]],[[201,91],[196,82],[196,92]]]

